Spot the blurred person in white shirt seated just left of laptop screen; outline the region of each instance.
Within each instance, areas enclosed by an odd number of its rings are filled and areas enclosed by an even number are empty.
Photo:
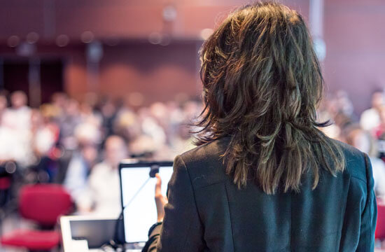
[[[76,205],[82,214],[118,217],[122,210],[118,165],[120,160],[127,158],[125,141],[115,135],[107,138],[104,155],[104,160],[92,168],[87,190]]]

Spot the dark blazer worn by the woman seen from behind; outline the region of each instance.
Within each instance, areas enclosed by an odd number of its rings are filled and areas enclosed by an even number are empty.
[[[377,204],[367,155],[338,142],[345,172],[322,171],[315,190],[305,174],[300,193],[267,195],[252,182],[242,190],[232,183],[220,158],[227,144],[176,157],[165,219],[148,251],[157,242],[162,252],[374,251]]]

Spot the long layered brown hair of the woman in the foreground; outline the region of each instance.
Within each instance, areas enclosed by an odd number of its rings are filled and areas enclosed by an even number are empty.
[[[320,65],[303,18],[279,3],[239,8],[202,45],[205,108],[197,145],[230,137],[223,160],[242,188],[300,191],[311,171],[336,176],[342,150],[316,122],[323,94]]]

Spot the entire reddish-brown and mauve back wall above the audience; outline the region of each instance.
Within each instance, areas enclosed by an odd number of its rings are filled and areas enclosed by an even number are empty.
[[[384,87],[385,2],[324,1],[325,82],[329,92],[349,92],[358,112],[363,111],[370,105],[372,90]],[[80,36],[92,31],[94,38],[102,41],[120,37],[118,45],[104,45],[99,85],[92,87],[97,92],[144,92],[150,99],[171,99],[183,90],[199,94],[200,31],[216,27],[230,10],[246,2],[175,1],[176,20],[166,22],[162,18],[163,8],[170,3],[166,0],[0,0],[0,57],[15,54],[15,48],[6,45],[9,36],[25,40],[29,32],[36,31],[40,35],[37,54],[64,58],[64,89],[81,99],[91,87]],[[309,0],[282,2],[307,19]],[[146,43],[155,31],[169,34],[172,43]],[[66,48],[55,45],[59,34],[69,36]]]

